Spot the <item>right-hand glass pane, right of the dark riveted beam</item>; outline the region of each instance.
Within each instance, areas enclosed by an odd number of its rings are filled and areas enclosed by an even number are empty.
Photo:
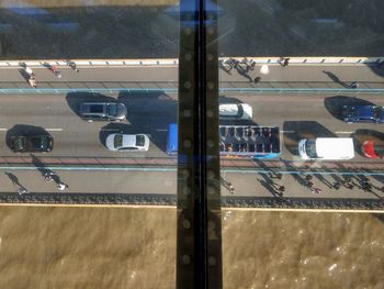
[[[348,287],[355,276],[375,278],[371,266],[347,257],[355,254],[353,247],[371,245],[335,237],[353,234],[361,222],[380,226],[374,216],[357,214],[351,224],[346,213],[242,209],[383,212],[379,12],[363,1],[224,0],[218,5],[222,201],[236,208],[223,213],[224,284],[305,288],[337,279]],[[227,21],[235,22],[231,30]],[[364,40],[347,31],[364,31]],[[252,115],[238,115],[239,105],[250,107]],[[270,154],[268,142],[252,133],[269,127],[279,130],[279,154]],[[244,157],[253,143],[263,155]],[[383,241],[374,231],[371,236],[370,242]],[[336,255],[343,252],[340,258],[334,259],[330,247]]]

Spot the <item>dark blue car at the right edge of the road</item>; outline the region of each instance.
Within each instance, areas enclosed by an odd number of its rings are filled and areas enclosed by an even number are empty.
[[[376,105],[343,105],[342,119],[348,123],[372,122],[384,123],[384,108]]]

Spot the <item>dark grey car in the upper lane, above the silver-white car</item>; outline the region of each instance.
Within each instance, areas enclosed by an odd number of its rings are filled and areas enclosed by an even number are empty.
[[[80,115],[87,121],[123,121],[126,113],[124,103],[87,102],[80,105]]]

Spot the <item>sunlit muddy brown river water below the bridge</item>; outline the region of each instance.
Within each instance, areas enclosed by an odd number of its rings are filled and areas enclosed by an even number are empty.
[[[371,214],[223,211],[225,288],[384,288]],[[174,288],[174,208],[0,208],[0,288]]]

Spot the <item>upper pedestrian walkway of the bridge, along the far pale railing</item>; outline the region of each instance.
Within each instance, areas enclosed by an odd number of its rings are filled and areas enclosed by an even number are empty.
[[[296,64],[283,67],[272,64],[230,71],[226,67],[218,68],[221,92],[384,92],[384,69],[372,65]],[[57,79],[46,68],[34,68],[38,87],[31,88],[16,67],[0,68],[0,93],[178,92],[177,66],[87,67],[81,74],[72,70],[68,66],[60,67],[63,77]],[[353,82],[358,85],[351,86]]]

